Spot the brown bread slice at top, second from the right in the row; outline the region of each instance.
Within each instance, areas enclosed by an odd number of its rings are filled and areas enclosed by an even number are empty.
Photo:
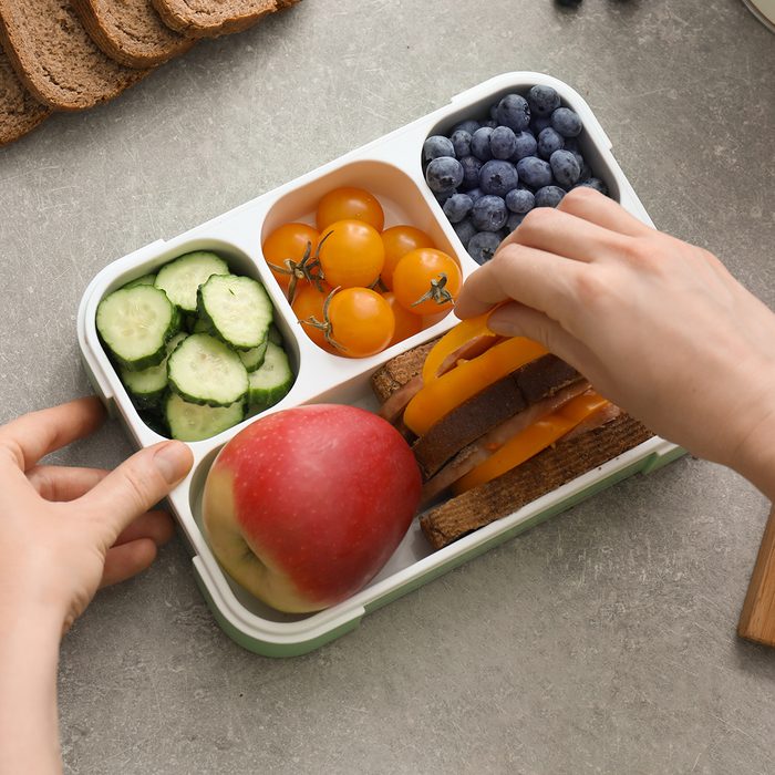
[[[196,42],[170,30],[151,0],[71,0],[92,40],[127,68],[153,68]]]

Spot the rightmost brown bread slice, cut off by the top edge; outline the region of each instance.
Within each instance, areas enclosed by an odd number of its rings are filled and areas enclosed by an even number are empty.
[[[194,38],[241,32],[298,0],[152,0],[164,23]]]

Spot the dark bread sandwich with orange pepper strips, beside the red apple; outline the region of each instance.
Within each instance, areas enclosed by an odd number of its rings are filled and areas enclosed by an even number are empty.
[[[487,316],[388,361],[380,414],[423,477],[420,524],[435,549],[505,517],[653,434],[576,369]]]

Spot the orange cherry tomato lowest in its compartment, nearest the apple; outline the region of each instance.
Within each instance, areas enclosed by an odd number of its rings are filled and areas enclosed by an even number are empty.
[[[349,358],[381,352],[390,344],[395,330],[390,304],[369,288],[337,291],[328,306],[328,322],[334,347]]]

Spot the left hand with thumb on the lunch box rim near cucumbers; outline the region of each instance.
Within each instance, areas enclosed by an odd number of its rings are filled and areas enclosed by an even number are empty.
[[[103,418],[91,397],[0,427],[0,610],[21,606],[66,630],[101,585],[146,568],[172,536],[169,516],[148,509],[190,468],[185,444],[157,444],[113,472],[40,464]]]

